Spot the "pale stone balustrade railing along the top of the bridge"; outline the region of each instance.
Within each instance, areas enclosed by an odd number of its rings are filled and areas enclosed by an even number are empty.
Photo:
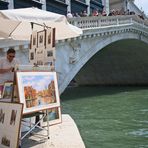
[[[148,21],[142,20],[136,15],[78,17],[78,18],[70,18],[68,19],[68,22],[82,29],[124,25],[132,23],[138,23],[145,27],[148,27]]]

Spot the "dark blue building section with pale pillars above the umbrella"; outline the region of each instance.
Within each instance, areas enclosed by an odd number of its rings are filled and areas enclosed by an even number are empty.
[[[37,7],[39,9],[66,15],[86,11],[87,14],[93,10],[102,11],[102,0],[0,0],[0,10]]]

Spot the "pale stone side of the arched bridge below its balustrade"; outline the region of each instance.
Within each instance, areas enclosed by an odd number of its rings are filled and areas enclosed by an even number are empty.
[[[148,44],[148,34],[134,25],[105,29],[87,29],[76,39],[59,42],[57,45],[56,69],[59,76],[59,91],[62,93],[79,70],[97,52],[107,45],[124,39],[136,39]],[[60,60],[59,60],[60,59]],[[61,62],[62,61],[62,62]]]

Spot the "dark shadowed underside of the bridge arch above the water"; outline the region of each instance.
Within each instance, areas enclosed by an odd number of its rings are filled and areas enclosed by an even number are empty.
[[[124,39],[97,52],[74,77],[78,85],[148,85],[148,45]]]

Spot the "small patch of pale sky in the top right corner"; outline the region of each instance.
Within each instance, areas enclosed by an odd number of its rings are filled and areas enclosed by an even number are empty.
[[[148,15],[148,0],[135,0],[135,4]]]

